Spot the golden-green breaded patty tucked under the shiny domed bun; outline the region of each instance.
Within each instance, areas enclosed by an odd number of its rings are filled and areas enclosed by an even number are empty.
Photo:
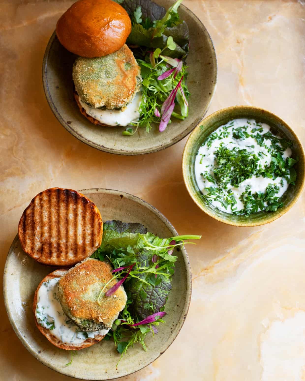
[[[80,99],[91,107],[124,108],[140,90],[141,69],[126,44],[104,57],[79,57],[73,81]]]

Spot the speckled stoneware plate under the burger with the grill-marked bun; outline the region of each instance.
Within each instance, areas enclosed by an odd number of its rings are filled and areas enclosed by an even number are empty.
[[[172,224],[147,202],[130,194],[109,189],[86,189],[81,191],[99,208],[103,221],[118,219],[138,222],[148,231],[160,237],[173,237],[177,232]],[[147,336],[147,352],[135,345],[128,350],[119,363],[120,355],[114,343],[101,341],[82,349],[73,363],[69,351],[53,346],[37,329],[32,311],[34,292],[40,281],[55,268],[43,266],[22,251],[18,235],[11,245],[5,264],[3,280],[4,300],[10,322],[28,351],[47,367],[80,379],[106,380],[133,373],[156,360],[172,344],[178,335],[188,313],[191,299],[191,268],[185,248],[178,253],[172,291],[166,303],[166,323],[159,326],[159,333],[153,338]]]

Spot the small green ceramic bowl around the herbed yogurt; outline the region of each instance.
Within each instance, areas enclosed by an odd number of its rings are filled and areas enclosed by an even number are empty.
[[[225,213],[220,210],[214,209],[209,205],[206,205],[201,197],[201,192],[196,182],[194,163],[196,154],[201,144],[205,139],[218,127],[229,122],[229,120],[236,118],[254,118],[257,122],[267,123],[271,126],[271,131],[289,139],[292,144],[292,157],[299,157],[299,162],[295,164],[294,168],[297,171],[297,180],[295,185],[289,185],[287,191],[283,195],[283,208],[279,208],[275,212],[258,212],[246,216],[234,216],[230,213]],[[186,188],[191,195],[194,202],[203,210],[207,215],[221,221],[223,223],[233,226],[258,226],[268,224],[271,221],[283,216],[297,201],[299,198],[303,186],[304,186],[304,167],[305,157],[302,144],[292,130],[281,118],[272,114],[270,111],[260,109],[258,107],[250,106],[233,106],[226,109],[214,112],[194,129],[186,142],[183,158],[182,158],[182,171],[183,179]]]

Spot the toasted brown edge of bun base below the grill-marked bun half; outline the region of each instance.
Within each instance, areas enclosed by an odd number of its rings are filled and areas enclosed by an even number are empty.
[[[46,277],[44,277],[43,280],[39,283],[39,286],[37,287],[37,290],[35,291],[35,295],[34,295],[34,303],[33,303],[34,319],[35,319],[35,323],[37,325],[37,328],[43,334],[43,336],[45,336],[48,339],[48,341],[50,341],[50,343],[52,343],[53,345],[55,345],[56,347],[58,347],[60,349],[66,349],[67,351],[72,351],[72,350],[79,351],[79,349],[87,348],[87,347],[92,346],[95,343],[98,343],[99,341],[101,341],[101,339],[104,338],[104,336],[98,335],[98,336],[95,336],[95,338],[88,338],[82,344],[63,343],[57,337],[52,335],[52,331],[48,330],[47,328],[43,328],[37,322],[36,315],[35,315],[36,306],[37,306],[37,294],[38,294],[39,288],[42,286],[42,283],[47,282],[48,280],[53,279],[53,278],[59,278],[59,277],[63,276],[64,274],[66,274],[66,272],[67,271],[65,269],[55,270],[55,271],[51,272],[51,274],[48,274]]]

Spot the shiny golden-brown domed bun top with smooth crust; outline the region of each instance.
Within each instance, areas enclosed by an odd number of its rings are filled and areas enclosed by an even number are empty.
[[[128,13],[112,0],[79,0],[56,24],[59,42],[72,53],[87,58],[119,50],[130,32]]]

